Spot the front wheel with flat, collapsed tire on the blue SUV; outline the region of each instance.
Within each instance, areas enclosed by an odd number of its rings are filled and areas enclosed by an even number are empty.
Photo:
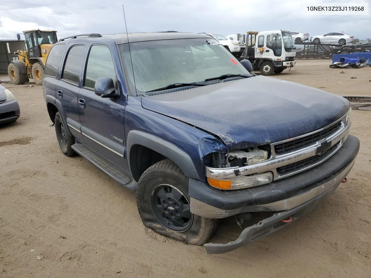
[[[214,234],[216,219],[191,214],[188,178],[170,159],[142,174],[136,198],[143,224],[159,234],[191,245],[203,245]]]

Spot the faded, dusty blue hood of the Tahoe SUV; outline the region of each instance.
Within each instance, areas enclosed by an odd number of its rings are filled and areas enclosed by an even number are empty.
[[[350,107],[344,97],[266,76],[146,96],[142,106],[218,136],[229,150],[312,132]]]

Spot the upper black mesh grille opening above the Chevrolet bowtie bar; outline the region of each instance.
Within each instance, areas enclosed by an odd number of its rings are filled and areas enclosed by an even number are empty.
[[[280,143],[278,145],[275,145],[275,152],[278,155],[282,155],[283,153],[294,152],[295,150],[306,148],[308,146],[315,144],[321,139],[327,138],[332,133],[335,133],[335,131],[338,130],[339,128],[341,128],[341,122],[337,122],[335,125],[332,125],[320,132],[305,137],[301,137],[289,142]]]

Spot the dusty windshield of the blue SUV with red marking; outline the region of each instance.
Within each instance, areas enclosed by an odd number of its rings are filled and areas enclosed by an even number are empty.
[[[213,39],[135,42],[130,43],[130,53],[126,43],[120,44],[119,50],[128,81],[131,86],[135,83],[137,93],[174,83],[204,82],[224,74],[251,76],[230,52]]]

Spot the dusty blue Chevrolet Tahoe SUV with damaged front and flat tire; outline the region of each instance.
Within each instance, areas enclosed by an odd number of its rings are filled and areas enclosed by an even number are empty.
[[[348,100],[250,67],[204,34],[82,34],[53,45],[43,92],[66,156],[136,190],[145,226],[216,254],[309,213],[359,150]]]

